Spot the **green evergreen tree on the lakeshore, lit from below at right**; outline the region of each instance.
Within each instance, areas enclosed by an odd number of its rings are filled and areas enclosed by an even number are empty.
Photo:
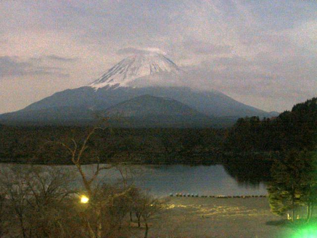
[[[316,179],[312,176],[313,158],[306,151],[290,151],[285,158],[276,160],[271,168],[272,181],[267,188],[271,211],[284,215],[291,210],[294,221],[294,209],[303,202],[312,202],[309,195]]]

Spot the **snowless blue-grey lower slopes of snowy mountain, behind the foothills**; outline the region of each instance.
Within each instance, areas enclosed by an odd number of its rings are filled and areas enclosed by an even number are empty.
[[[50,107],[83,107],[91,110],[104,110],[125,100],[145,94],[172,98],[201,113],[214,117],[269,117],[269,113],[239,103],[220,92],[198,91],[187,87],[118,87],[115,89],[105,87],[97,91],[91,87],[67,89],[33,103],[21,111],[34,111]]]

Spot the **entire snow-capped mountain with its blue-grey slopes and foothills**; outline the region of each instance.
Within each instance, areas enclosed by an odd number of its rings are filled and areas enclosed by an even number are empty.
[[[121,117],[133,121],[156,118],[156,123],[142,123],[143,126],[211,126],[220,117],[234,120],[246,116],[276,116],[215,90],[184,86],[184,78],[188,80],[185,76],[186,71],[161,54],[129,56],[87,86],[66,89],[22,110],[2,114],[0,122],[90,123],[96,114],[111,116],[113,112],[120,112]],[[144,95],[147,96],[141,97]],[[160,118],[164,119],[160,121]],[[167,125],[166,119],[172,121]]]

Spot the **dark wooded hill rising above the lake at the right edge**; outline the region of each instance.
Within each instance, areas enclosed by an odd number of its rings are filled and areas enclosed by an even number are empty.
[[[277,118],[238,119],[225,141],[227,149],[237,151],[315,150],[317,98],[297,104]]]

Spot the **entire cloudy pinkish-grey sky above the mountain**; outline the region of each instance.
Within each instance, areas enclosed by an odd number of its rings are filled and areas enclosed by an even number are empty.
[[[316,0],[0,0],[0,113],[155,49],[266,111],[317,96]]]

